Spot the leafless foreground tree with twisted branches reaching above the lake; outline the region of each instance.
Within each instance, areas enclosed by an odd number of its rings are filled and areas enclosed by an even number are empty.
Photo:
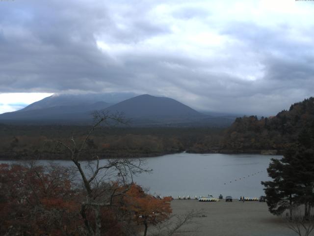
[[[115,125],[125,124],[125,120],[121,114],[111,115],[108,112],[95,112],[95,123],[85,136],[83,141],[78,142],[71,138],[66,144],[62,141],[57,141],[57,144],[67,150],[69,158],[75,164],[79,176],[83,182],[86,191],[86,199],[81,203],[80,214],[84,222],[84,234],[86,236],[101,236],[102,207],[113,206],[113,199],[128,191],[128,187],[121,188],[118,185],[110,185],[105,180],[116,180],[120,184],[128,184],[133,181],[133,176],[142,172],[148,172],[144,169],[141,159],[108,159],[104,164],[101,164],[100,158],[96,153],[88,151],[88,141],[91,134],[96,128],[102,124]],[[81,156],[83,159],[88,159],[86,168],[82,167]],[[94,213],[95,220],[91,221],[87,215],[87,211],[91,210]],[[94,225],[93,225],[94,224]]]

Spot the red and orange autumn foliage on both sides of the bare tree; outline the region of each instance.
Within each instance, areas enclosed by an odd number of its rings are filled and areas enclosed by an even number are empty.
[[[79,236],[84,222],[80,214],[84,189],[72,181],[72,173],[59,166],[0,164],[0,235]],[[108,183],[107,191],[123,193],[111,207],[101,209],[102,236],[141,232],[166,220],[170,198],[157,199],[136,184]],[[86,211],[90,222],[92,210]]]

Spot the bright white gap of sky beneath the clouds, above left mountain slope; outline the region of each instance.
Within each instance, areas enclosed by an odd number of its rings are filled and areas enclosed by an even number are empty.
[[[45,92],[0,93],[0,114],[20,110],[52,94]]]

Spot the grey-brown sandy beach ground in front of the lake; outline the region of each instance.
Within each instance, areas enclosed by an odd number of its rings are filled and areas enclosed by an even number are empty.
[[[285,220],[268,212],[266,203],[260,202],[198,202],[197,200],[173,200],[174,214],[203,209],[206,217],[195,218],[199,232],[189,236],[295,236]],[[314,235],[314,234],[313,234]]]

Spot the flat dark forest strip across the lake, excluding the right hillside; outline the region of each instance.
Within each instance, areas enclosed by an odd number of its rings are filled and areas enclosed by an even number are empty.
[[[0,158],[63,159],[55,141],[82,140],[89,126],[0,125]],[[210,127],[99,127],[88,140],[89,148],[106,157],[143,157],[167,153],[218,149],[221,128]],[[88,158],[88,157],[86,157]]]

